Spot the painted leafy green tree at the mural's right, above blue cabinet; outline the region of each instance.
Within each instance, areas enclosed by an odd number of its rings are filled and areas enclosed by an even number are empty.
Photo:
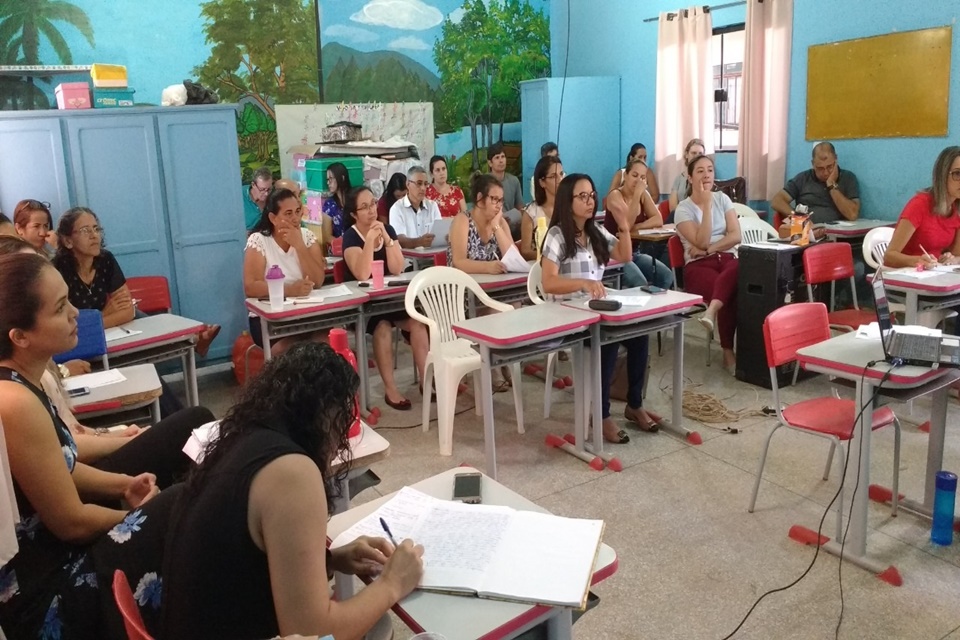
[[[466,0],[463,17],[448,17],[434,44],[440,72],[440,117],[470,127],[471,169],[480,167],[479,137],[493,142],[493,124],[518,120],[520,81],[550,72],[550,25],[525,0]],[[481,127],[478,136],[477,127]]]

